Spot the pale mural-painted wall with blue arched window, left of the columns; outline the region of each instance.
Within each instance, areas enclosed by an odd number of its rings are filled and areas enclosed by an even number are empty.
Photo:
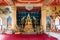
[[[0,33],[9,33],[7,32],[7,30],[9,30],[9,26],[10,28],[12,28],[12,7],[10,6],[1,6],[0,7],[0,28],[1,28],[1,32]]]

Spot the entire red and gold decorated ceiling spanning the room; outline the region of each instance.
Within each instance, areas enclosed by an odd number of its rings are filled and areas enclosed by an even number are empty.
[[[0,6],[18,6],[27,4],[60,5],[60,0],[0,0]]]

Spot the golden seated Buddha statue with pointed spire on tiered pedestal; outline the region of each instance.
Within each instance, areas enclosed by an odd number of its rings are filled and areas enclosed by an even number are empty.
[[[30,19],[30,15],[29,14],[28,14],[27,19],[26,19],[24,32],[26,32],[26,33],[34,32],[34,29],[32,27],[32,21]]]

